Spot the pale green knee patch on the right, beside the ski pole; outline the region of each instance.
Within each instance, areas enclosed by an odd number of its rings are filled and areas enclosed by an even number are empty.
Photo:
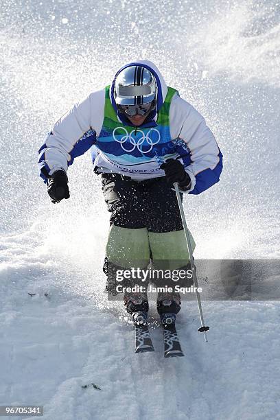
[[[148,235],[155,267],[161,266],[161,268],[173,270],[189,263],[187,241],[183,229],[163,233],[148,232]],[[196,244],[190,231],[189,239],[191,250],[194,251]]]

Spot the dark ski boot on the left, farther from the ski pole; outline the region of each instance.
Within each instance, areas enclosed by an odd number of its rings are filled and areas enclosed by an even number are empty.
[[[149,303],[145,293],[126,293],[124,305],[128,314],[131,314],[135,325],[145,325],[148,318]]]

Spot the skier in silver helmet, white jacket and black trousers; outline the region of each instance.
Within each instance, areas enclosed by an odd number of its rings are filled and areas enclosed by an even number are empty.
[[[47,135],[38,164],[52,202],[69,198],[67,168],[90,148],[111,213],[104,261],[108,292],[115,294],[119,268],[147,268],[152,260],[186,269],[189,255],[173,184],[182,199],[219,181],[222,154],[205,119],[167,87],[152,62],[130,62]],[[130,314],[147,315],[145,292],[126,293],[124,302]],[[159,294],[157,309],[161,317],[177,314],[180,294]]]

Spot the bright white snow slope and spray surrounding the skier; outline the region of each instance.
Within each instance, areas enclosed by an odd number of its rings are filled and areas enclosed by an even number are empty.
[[[156,351],[135,355],[123,305],[104,294],[108,213],[89,155],[59,205],[36,166],[51,124],[145,56],[224,154],[220,183],[185,198],[196,259],[279,259],[279,4],[2,3],[0,404],[43,405],[49,420],[279,419],[279,302],[202,296],[205,343],[184,301],[185,358],[164,360],[152,301]],[[259,285],[273,296],[278,279]]]

